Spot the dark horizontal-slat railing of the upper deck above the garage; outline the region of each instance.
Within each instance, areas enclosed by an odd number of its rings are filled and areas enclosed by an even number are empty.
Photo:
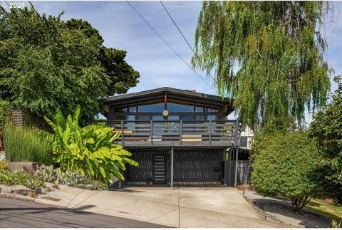
[[[120,132],[116,141],[127,147],[230,147],[237,145],[239,129],[236,120],[108,120],[107,125]]]

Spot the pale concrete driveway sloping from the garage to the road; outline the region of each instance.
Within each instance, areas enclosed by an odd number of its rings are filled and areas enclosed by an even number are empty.
[[[232,188],[145,188],[89,191],[61,186],[36,202],[172,227],[289,227],[264,221]],[[56,199],[61,199],[57,201]]]

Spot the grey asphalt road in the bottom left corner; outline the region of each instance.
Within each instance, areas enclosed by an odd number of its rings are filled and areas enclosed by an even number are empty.
[[[156,228],[165,227],[142,221],[103,214],[91,214],[83,209],[67,209],[34,202],[0,197],[1,228]]]

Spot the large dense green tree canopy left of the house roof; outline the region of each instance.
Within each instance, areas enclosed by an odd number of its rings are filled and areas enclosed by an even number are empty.
[[[81,105],[81,120],[91,120],[102,112],[102,98],[125,93],[139,73],[125,51],[105,48],[88,22],[65,22],[62,14],[0,9],[0,98],[38,115],[58,107],[69,114]]]

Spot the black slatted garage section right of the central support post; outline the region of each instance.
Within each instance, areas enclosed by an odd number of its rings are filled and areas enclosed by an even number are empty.
[[[174,182],[218,182],[222,160],[222,150],[175,149]]]

